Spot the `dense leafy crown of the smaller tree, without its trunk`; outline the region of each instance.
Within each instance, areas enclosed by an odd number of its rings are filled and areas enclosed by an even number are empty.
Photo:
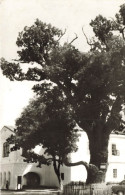
[[[53,87],[46,95],[30,102],[16,121],[16,140],[20,147],[30,151],[42,145],[45,154],[60,158],[62,163],[68,154],[77,150],[76,122],[63,99],[60,90]]]

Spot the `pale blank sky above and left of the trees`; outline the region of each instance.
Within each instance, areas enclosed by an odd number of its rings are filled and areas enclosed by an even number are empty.
[[[87,51],[88,38],[93,33],[89,23],[97,15],[112,18],[124,0],[0,0],[0,58],[17,59],[16,39],[24,26],[31,26],[36,18],[51,23],[66,34],[63,39],[71,41],[78,35],[74,45]],[[33,97],[32,82],[12,82],[0,71],[0,128],[14,125],[29,99]]]

